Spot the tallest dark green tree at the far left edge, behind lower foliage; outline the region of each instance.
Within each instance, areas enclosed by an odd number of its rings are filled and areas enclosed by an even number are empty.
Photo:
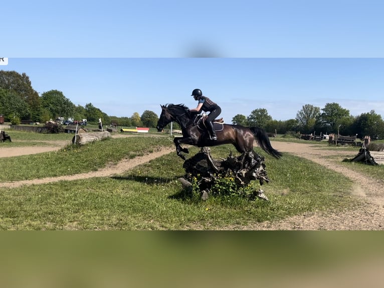
[[[18,73],[16,71],[0,70],[0,88],[13,91],[28,105],[28,113],[24,118],[33,121],[40,120],[41,109],[39,94],[32,88],[29,76],[26,73]]]

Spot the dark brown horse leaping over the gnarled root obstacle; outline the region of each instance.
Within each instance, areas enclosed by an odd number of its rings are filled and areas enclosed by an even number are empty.
[[[275,150],[266,131],[259,127],[245,127],[235,124],[214,123],[217,140],[211,140],[206,128],[202,127],[203,121],[198,121],[200,116],[196,112],[190,112],[184,104],[166,104],[160,105],[161,114],[157,121],[157,131],[161,132],[163,128],[171,121],[177,122],[181,126],[182,137],[175,137],[173,142],[176,146],[177,156],[185,160],[183,153],[188,153],[188,149],[182,148],[180,144],[188,144],[197,147],[212,147],[224,144],[232,144],[240,153],[253,152],[253,142],[269,155],[279,159],[282,154]],[[218,128],[219,126],[219,128]]]

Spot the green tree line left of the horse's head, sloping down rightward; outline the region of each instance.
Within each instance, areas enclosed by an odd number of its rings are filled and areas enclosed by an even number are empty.
[[[87,119],[91,124],[98,123],[101,118],[105,124],[155,127],[158,120],[158,116],[149,110],[145,110],[141,115],[134,112],[131,117],[109,116],[92,103],[76,106],[59,90],[50,90],[39,95],[32,88],[26,73],[4,70],[0,70],[0,114],[12,124],[20,124],[23,120],[45,123],[64,117],[74,120]]]

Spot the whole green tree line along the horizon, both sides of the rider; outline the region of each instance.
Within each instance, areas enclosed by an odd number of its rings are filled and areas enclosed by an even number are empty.
[[[110,116],[92,103],[85,106],[73,104],[63,92],[50,90],[40,96],[32,88],[31,80],[26,73],[0,70],[0,114],[6,121],[19,124],[22,120],[46,122],[58,117],[87,119],[89,123],[116,123],[118,126],[155,127],[158,116],[155,112],[145,110],[141,115],[134,112],[130,117]],[[232,118],[233,124],[258,126],[268,132],[285,134],[300,132],[302,134],[340,133],[364,137],[384,138],[384,121],[381,115],[371,110],[352,116],[348,109],[338,103],[327,103],[323,108],[306,104],[297,111],[296,117],[289,120],[274,120],[267,109],[258,108],[249,116],[237,114]],[[174,123],[175,128],[179,128]]]

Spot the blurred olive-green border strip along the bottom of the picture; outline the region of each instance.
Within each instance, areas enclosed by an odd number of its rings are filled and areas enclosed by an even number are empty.
[[[379,231],[2,231],[0,285],[374,287],[383,238]]]

